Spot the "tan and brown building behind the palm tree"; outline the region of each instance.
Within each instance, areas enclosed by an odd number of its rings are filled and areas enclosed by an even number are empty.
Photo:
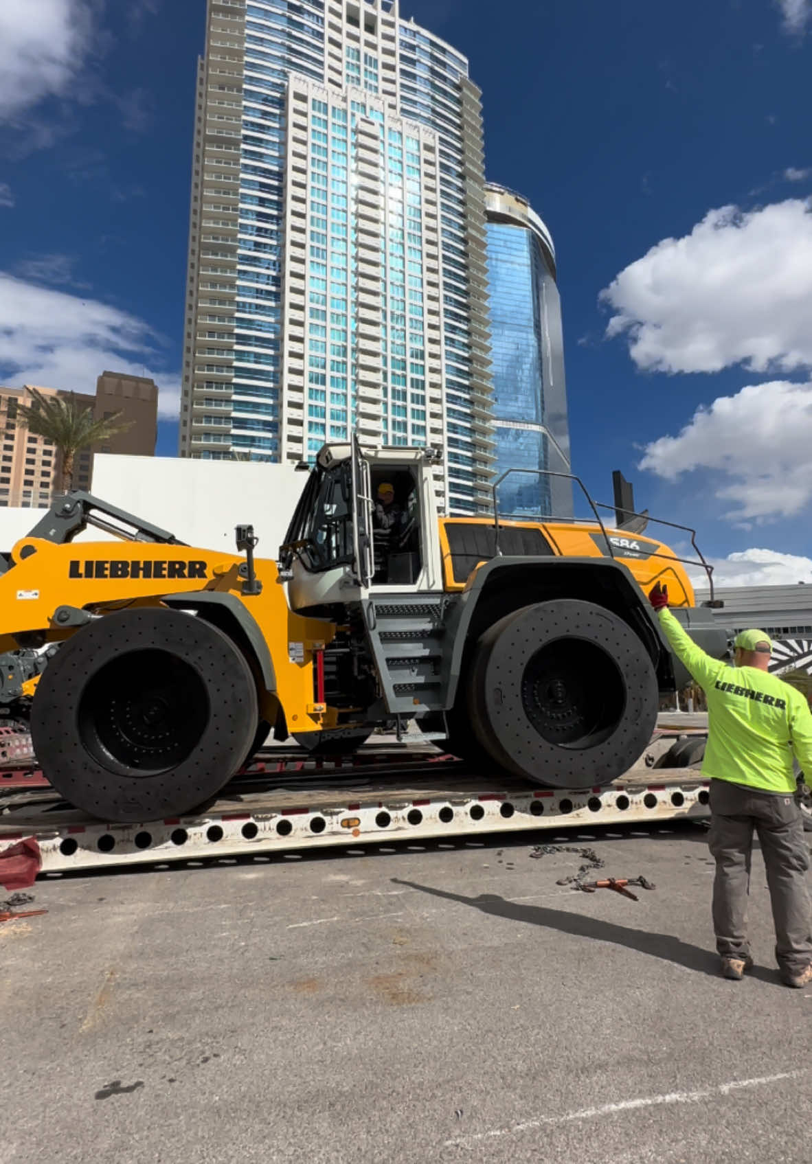
[[[70,396],[55,388],[40,388],[43,396]],[[108,419],[116,412],[130,427],[112,436],[96,449],[77,453],[73,488],[90,489],[93,480],[93,453],[128,453],[151,456],[157,438],[157,399],[155,381],[146,376],[128,376],[105,371],[96,383],[96,396],[72,393],[76,400],[91,409],[97,420]],[[59,487],[59,457],[51,441],[28,432],[19,424],[21,404],[31,404],[29,385],[0,388],[0,506],[45,508]]]

